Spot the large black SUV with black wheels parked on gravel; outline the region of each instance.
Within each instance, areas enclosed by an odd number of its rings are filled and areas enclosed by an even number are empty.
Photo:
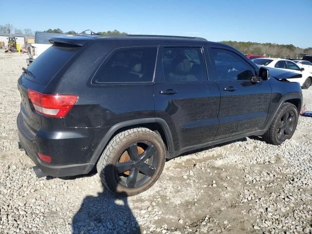
[[[18,81],[19,145],[37,176],[96,166],[110,190],[135,195],[166,159],[247,136],[278,145],[295,131],[294,74],[258,67],[231,46],[142,35],[50,42]]]

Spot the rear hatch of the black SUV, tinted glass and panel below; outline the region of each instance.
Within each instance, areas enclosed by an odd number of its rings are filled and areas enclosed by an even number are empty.
[[[21,97],[19,121],[30,134],[35,135],[41,128],[42,116],[35,111],[28,96],[28,89],[44,93],[45,87],[80,48],[80,45],[55,43],[32,62],[27,72],[20,76],[18,81]]]

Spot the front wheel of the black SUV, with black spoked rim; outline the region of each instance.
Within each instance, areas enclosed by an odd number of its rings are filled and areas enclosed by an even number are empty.
[[[269,129],[262,136],[263,139],[273,145],[280,145],[286,139],[290,139],[297,127],[298,117],[298,110],[295,105],[289,102],[283,103]]]

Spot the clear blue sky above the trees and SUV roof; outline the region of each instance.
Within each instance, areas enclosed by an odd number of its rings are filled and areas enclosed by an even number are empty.
[[[312,0],[0,0],[0,25],[312,47]],[[7,9],[7,10],[3,10]]]

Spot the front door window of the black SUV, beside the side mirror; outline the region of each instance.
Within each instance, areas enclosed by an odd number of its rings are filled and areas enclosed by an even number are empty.
[[[210,55],[219,81],[250,80],[255,74],[254,67],[232,51],[211,49]]]

